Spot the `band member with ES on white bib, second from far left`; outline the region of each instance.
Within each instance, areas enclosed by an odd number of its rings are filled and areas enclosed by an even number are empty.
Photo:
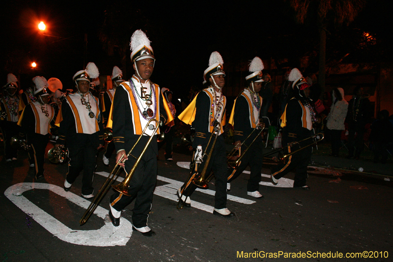
[[[48,145],[50,128],[55,126],[55,110],[48,105],[50,101],[48,82],[44,77],[33,79],[36,90],[34,102],[28,103],[19,118],[18,125],[21,133],[26,134],[28,144],[31,144],[33,155],[29,158],[35,166],[35,179],[44,179],[44,155]]]

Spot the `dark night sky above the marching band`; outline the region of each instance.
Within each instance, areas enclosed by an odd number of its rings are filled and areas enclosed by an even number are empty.
[[[229,5],[227,1],[36,2],[13,0],[4,4],[3,10],[8,12],[3,12],[0,18],[5,25],[0,56],[3,82],[6,73],[12,72],[21,76],[22,86],[23,81],[28,82],[34,75],[47,79],[57,77],[65,87],[71,86],[74,73],[83,69],[84,33],[88,40],[86,62],[95,62],[101,75],[110,75],[113,65],[121,66],[121,56],[116,50],[108,56],[98,32],[104,12],[113,10],[112,6],[121,16],[119,19],[123,19],[119,21],[126,21],[124,27],[114,29],[119,39],[124,39],[123,44],[127,45],[134,30],[147,31],[157,58],[152,80],[175,90],[189,89],[202,82],[203,70],[213,51],[219,51],[228,66],[245,63],[254,56],[288,58],[290,66],[298,66],[299,57],[318,50],[315,25],[297,25],[292,9],[283,0],[239,1],[236,5]],[[336,53],[350,53],[352,57],[346,59],[362,59],[362,52],[355,52],[351,45],[344,44],[348,41],[344,36],[349,31],[369,31],[377,38],[380,48],[388,49],[393,26],[390,10],[390,0],[369,0],[349,27],[332,27],[328,34],[327,58],[329,52],[337,51],[329,49],[333,46],[339,49]],[[139,21],[134,22],[135,19]],[[70,38],[60,40],[40,35],[36,28],[39,21],[47,25],[45,34]],[[385,57],[390,56],[384,52]],[[132,73],[129,55],[128,51],[127,77]],[[32,60],[39,64],[39,69],[29,68],[28,62]]]

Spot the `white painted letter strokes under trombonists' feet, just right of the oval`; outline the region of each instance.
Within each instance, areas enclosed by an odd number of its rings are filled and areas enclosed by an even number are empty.
[[[97,175],[102,175],[104,177],[108,177],[108,175],[109,175],[109,173],[107,173],[107,172],[97,172],[96,174]],[[157,196],[160,196],[160,197],[163,197],[163,198],[166,198],[166,199],[169,199],[169,200],[177,202],[178,198],[177,198],[177,195],[176,195],[176,191],[177,191],[177,189],[179,187],[181,187],[184,184],[184,182],[180,182],[180,181],[177,181],[177,180],[174,180],[174,179],[170,179],[170,178],[167,178],[167,177],[164,177],[164,176],[160,176],[160,175],[157,175],[157,179],[161,180],[161,181],[164,181],[164,182],[167,182],[168,184],[162,185],[162,186],[157,186],[156,189],[154,190],[154,194],[157,195]],[[123,180],[124,180],[123,177],[117,177],[116,178],[116,181],[118,181],[118,182],[122,182]],[[199,189],[199,188],[197,188],[196,190],[199,191],[199,192],[202,192],[204,194],[211,195],[211,196],[214,196],[216,194],[216,191],[213,191],[213,190],[210,190],[210,189]],[[254,204],[255,203],[255,201],[252,201],[252,200],[249,200],[249,199],[235,197],[235,196],[232,196],[232,195],[227,195],[226,199],[229,200],[229,201],[233,201],[233,202],[237,202],[237,203],[241,203],[241,204]],[[207,204],[203,204],[203,203],[199,203],[197,201],[191,200],[191,206],[195,207],[197,209],[200,209],[200,210],[204,210],[204,211],[209,212],[209,213],[213,213],[213,208],[214,207],[211,206],[211,205],[207,205]]]

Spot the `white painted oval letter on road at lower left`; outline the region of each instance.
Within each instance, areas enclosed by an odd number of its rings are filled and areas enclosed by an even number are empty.
[[[4,195],[9,200],[23,212],[30,214],[43,228],[65,242],[84,246],[125,246],[131,237],[132,224],[124,218],[120,218],[118,227],[113,227],[112,223],[105,223],[98,230],[72,230],[23,196],[24,192],[31,189],[50,190],[84,209],[87,209],[90,202],[72,192],[65,192],[59,186],[46,183],[19,183],[5,190]],[[98,206],[94,214],[105,219],[108,210]]]

